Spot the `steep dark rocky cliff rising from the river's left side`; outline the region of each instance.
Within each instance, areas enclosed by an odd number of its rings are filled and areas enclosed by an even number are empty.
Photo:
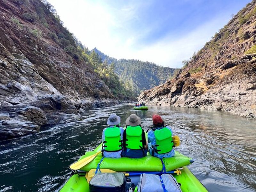
[[[0,138],[117,103],[50,9],[39,0],[0,0]]]

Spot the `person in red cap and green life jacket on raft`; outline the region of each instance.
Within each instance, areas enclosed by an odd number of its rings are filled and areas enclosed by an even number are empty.
[[[164,158],[174,156],[172,129],[164,126],[161,116],[153,114],[153,127],[148,132],[148,150],[150,155]]]

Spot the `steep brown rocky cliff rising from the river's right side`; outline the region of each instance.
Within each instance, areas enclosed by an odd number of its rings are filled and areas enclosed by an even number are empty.
[[[142,92],[139,101],[256,118],[256,1],[220,29],[175,78]]]

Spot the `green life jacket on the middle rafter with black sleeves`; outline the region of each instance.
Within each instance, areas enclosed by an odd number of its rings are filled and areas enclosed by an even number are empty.
[[[126,127],[126,148],[129,149],[142,149],[142,128],[138,126]]]

